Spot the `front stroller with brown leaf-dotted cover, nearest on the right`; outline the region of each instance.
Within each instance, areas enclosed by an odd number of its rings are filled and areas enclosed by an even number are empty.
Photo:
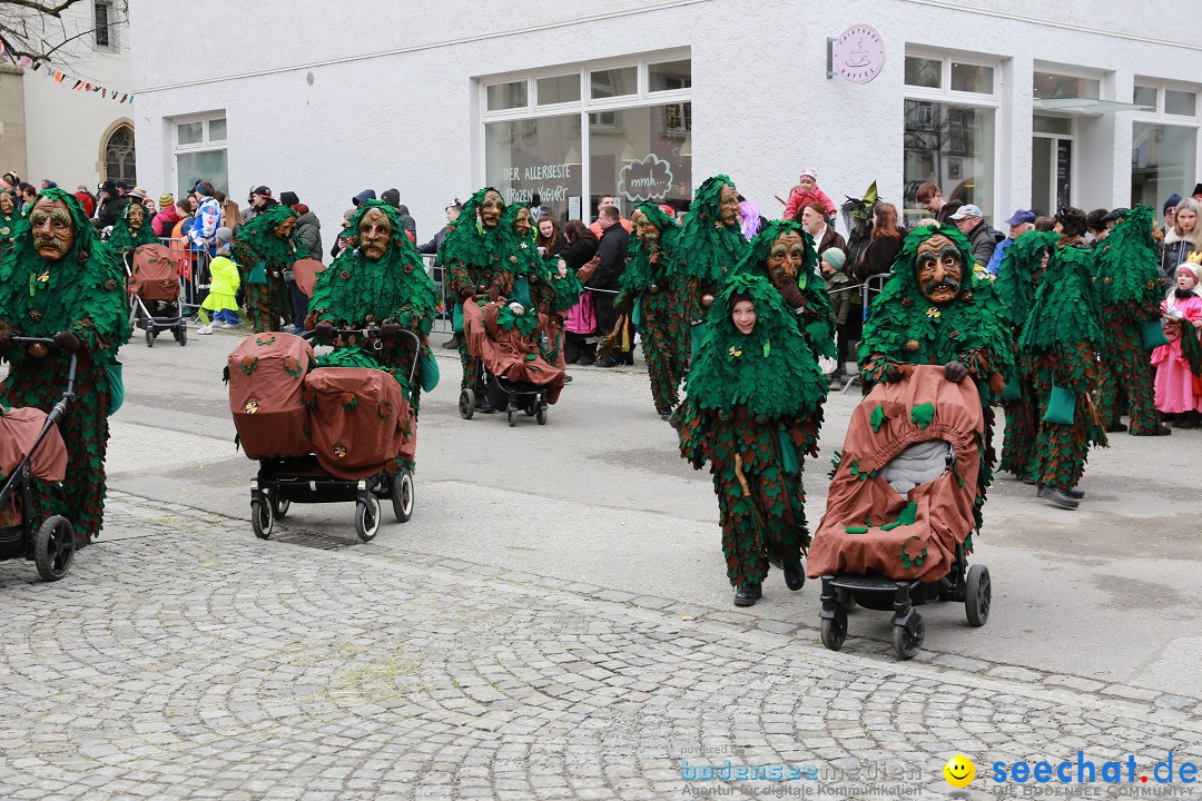
[[[903,659],[926,635],[914,606],[956,600],[969,624],[989,617],[989,569],[968,566],[984,431],[976,385],[947,381],[942,366],[903,370],[903,381],[877,384],[856,407],[809,550],[832,651],[843,647],[855,604],[893,612]]]

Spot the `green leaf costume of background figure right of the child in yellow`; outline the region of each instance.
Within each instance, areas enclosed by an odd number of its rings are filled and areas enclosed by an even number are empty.
[[[256,333],[278,331],[281,321],[292,318],[292,295],[284,273],[297,261],[297,247],[291,235],[276,237],[274,228],[296,216],[276,203],[233,235],[231,251],[246,293],[246,316]]]

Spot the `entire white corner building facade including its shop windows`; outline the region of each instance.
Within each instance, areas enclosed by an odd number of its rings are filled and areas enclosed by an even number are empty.
[[[216,2],[221,55],[165,73],[194,32],[133,0],[139,183],[291,190],[331,233],[353,195],[397,187],[424,240],[486,184],[591,219],[601,195],[683,208],[726,173],[778,217],[810,167],[837,203],[876,181],[916,219],[930,180],[1000,225],[1016,208],[1159,211],[1202,179],[1197,4],[511,5]],[[875,34],[832,58],[855,26]]]

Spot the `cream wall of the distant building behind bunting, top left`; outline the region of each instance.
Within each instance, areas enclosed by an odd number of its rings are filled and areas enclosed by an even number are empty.
[[[93,47],[93,4],[82,2],[63,13],[66,37],[79,38],[60,50],[55,61],[75,78],[119,89],[132,85],[127,25],[115,26],[115,52]],[[75,190],[78,184],[95,187],[103,172],[106,135],[119,120],[131,118],[132,106],[102,98],[100,92],[72,91],[71,84],[43,78],[46,67],[25,71],[25,125],[28,173],[22,178],[35,186],[43,178]]]

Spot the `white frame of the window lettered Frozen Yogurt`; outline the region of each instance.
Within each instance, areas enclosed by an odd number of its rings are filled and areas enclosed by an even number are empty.
[[[537,119],[542,116],[561,116],[564,114],[578,113],[581,115],[581,214],[582,219],[587,222],[589,216],[589,202],[591,198],[591,174],[588,169],[590,163],[591,149],[590,149],[590,136],[591,130],[590,115],[605,112],[615,112],[632,108],[644,108],[653,106],[668,106],[672,103],[691,103],[692,102],[692,85],[690,78],[690,85],[684,89],[664,89],[657,91],[650,91],[650,77],[648,74],[649,67],[659,64],[666,64],[671,61],[692,61],[691,48],[674,48],[668,50],[654,50],[649,53],[639,53],[625,56],[618,56],[612,59],[599,59],[595,61],[579,61],[575,64],[560,64],[551,67],[541,67],[537,70],[524,70],[520,72],[505,72],[499,74],[482,76],[475,78],[476,83],[476,108],[478,109],[477,125],[478,125],[478,139],[476,143],[476,159],[472,167],[474,183],[480,185],[484,183],[484,175],[487,171],[487,125],[492,122],[508,122],[523,119]],[[621,95],[619,97],[603,97],[599,100],[593,100],[589,95],[589,73],[599,72],[605,70],[620,70],[623,67],[636,67],[635,83],[636,90],[632,95]],[[563,102],[563,103],[548,103],[538,104],[538,79],[540,78],[563,78],[569,74],[579,76],[581,80],[581,98],[577,101]],[[690,66],[691,76],[691,66]],[[526,104],[522,108],[507,108],[504,110],[488,110],[488,86],[505,83],[514,83],[526,80]],[[682,119],[684,116],[682,115]],[[690,109],[689,119],[689,131],[673,131],[674,135],[682,137],[691,136],[691,120],[692,114]],[[612,130],[611,130],[612,132]]]

